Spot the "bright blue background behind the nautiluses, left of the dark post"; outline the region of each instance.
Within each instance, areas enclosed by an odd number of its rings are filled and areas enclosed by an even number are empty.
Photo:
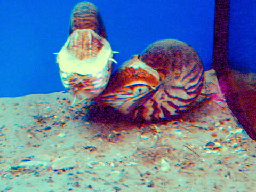
[[[62,91],[55,55],[80,1],[0,1],[0,97]],[[118,65],[159,39],[190,45],[210,69],[214,1],[91,1],[101,12]],[[115,66],[114,70],[118,67]]]

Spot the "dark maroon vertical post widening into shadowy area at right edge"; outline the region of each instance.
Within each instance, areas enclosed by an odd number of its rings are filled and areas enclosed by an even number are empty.
[[[228,50],[229,10],[230,0],[215,1],[212,67],[228,106],[247,134],[256,140],[256,90],[250,85],[251,79],[246,79],[247,74],[233,69],[228,61],[228,52],[232,51]]]

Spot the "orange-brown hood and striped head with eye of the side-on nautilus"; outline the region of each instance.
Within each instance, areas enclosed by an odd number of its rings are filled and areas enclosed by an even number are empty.
[[[111,76],[106,90],[96,98],[96,102],[128,115],[137,102],[157,89],[159,82],[157,71],[142,62],[139,55],[134,55]]]

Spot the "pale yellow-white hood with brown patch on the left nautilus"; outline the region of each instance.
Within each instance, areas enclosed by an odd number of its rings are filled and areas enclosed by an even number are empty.
[[[100,42],[102,46],[95,45],[94,39]],[[83,42],[81,43],[81,41]],[[84,54],[83,59],[78,57],[77,52],[73,50],[82,52]],[[108,60],[112,56],[110,44],[106,39],[100,37],[91,29],[77,29],[69,36],[67,42],[58,53],[57,63],[63,72],[96,76],[99,71],[106,67]]]

